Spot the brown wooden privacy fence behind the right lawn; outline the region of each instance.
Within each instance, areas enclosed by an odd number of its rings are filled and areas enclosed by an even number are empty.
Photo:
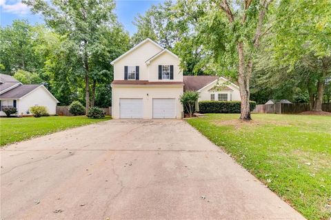
[[[331,103],[323,103],[322,110],[331,112]],[[253,113],[274,113],[274,114],[298,114],[309,111],[308,103],[274,103],[267,105],[257,105]]]

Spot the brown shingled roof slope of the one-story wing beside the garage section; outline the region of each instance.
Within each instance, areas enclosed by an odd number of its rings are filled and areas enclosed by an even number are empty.
[[[217,79],[217,76],[183,76],[184,91],[197,91]]]

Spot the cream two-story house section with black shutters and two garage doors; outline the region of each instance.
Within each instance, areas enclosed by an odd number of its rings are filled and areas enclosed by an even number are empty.
[[[182,117],[183,72],[176,54],[146,39],[112,61],[112,117]]]

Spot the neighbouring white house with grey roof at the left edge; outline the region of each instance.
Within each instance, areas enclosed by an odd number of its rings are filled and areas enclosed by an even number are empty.
[[[23,85],[7,74],[0,74],[0,116],[4,107],[17,108],[17,115],[30,115],[30,107],[46,106],[49,114],[56,114],[57,99],[43,85]]]

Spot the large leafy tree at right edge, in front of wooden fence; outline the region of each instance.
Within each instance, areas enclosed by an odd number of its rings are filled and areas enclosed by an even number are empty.
[[[329,0],[283,0],[274,26],[274,57],[279,66],[294,68],[302,63],[314,71],[308,91],[311,108],[316,111],[321,111],[331,76],[330,8]]]

